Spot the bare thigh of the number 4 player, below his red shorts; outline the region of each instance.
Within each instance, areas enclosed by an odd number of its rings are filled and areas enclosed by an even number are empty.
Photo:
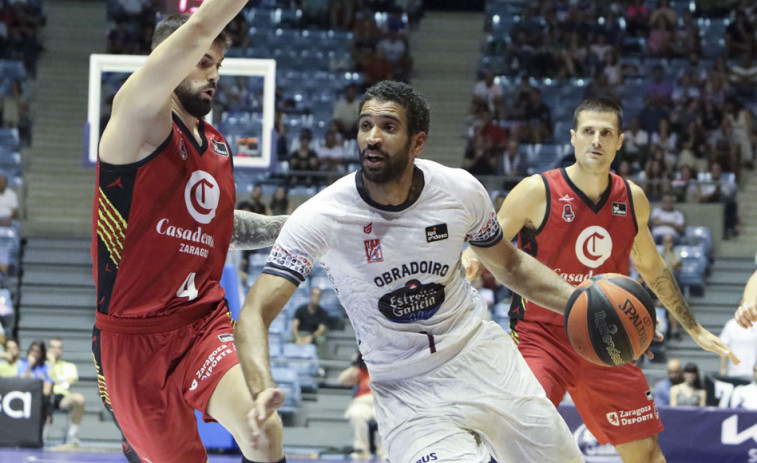
[[[221,378],[210,396],[207,415],[218,421],[236,440],[245,455],[252,455],[255,461],[269,461],[275,458],[282,446],[282,425],[277,413],[271,415],[263,427],[263,436],[258,443],[259,450],[251,451],[252,440],[247,415],[253,402],[244,381],[242,367],[231,367]],[[273,456],[272,456],[273,455]]]

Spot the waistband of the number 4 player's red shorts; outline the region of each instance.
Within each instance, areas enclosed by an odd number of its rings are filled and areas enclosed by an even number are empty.
[[[101,312],[95,313],[95,326],[101,331],[119,334],[165,333],[189,325],[211,314],[219,304],[203,304],[182,309],[159,317],[114,317]]]

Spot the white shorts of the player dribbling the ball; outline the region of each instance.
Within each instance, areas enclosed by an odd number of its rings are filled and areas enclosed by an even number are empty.
[[[576,441],[496,323],[424,375],[372,382],[392,463],[582,462]]]

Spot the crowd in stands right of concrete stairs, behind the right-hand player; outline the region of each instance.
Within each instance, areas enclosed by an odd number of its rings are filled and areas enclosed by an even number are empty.
[[[724,238],[737,235],[736,185],[757,142],[757,9],[723,4],[488,2],[463,167],[522,177],[566,165],[569,110],[613,96],[624,105],[615,171],[653,202],[723,203]]]

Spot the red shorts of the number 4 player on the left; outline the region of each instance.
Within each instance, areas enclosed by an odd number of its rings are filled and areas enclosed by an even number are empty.
[[[194,410],[206,412],[218,382],[239,363],[226,305],[168,332],[115,331],[98,323],[92,350],[100,395],[129,461],[207,461]]]

